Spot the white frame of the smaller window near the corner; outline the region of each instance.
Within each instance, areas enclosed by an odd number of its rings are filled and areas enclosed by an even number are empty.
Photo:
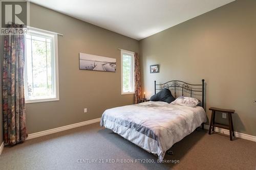
[[[132,74],[133,74],[132,86],[133,86],[133,90],[131,92],[124,92],[123,91],[123,54],[129,54],[129,55],[133,56],[133,62],[132,62]],[[135,74],[134,74],[135,58],[134,58],[134,55],[135,55],[134,52],[121,50],[121,94],[135,94]]]

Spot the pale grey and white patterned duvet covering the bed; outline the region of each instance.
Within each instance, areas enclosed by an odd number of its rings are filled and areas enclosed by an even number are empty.
[[[105,110],[100,126],[111,129],[163,160],[172,145],[206,122],[202,107],[144,102]]]

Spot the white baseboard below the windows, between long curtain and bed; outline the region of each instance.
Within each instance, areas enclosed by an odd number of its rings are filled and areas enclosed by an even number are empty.
[[[40,137],[40,136],[49,135],[49,134],[52,134],[52,133],[57,133],[57,132],[69,130],[69,129],[73,129],[73,128],[77,128],[77,127],[84,126],[84,125],[93,124],[93,123],[96,123],[96,122],[100,122],[100,118],[87,120],[87,121],[72,124],[72,125],[62,126],[62,127],[59,127],[59,128],[49,129],[49,130],[46,130],[46,131],[31,133],[31,134],[28,135],[28,138],[26,140],[33,139],[33,138]]]

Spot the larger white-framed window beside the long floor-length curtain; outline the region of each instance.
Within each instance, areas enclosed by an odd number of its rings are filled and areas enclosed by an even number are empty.
[[[26,103],[59,100],[57,34],[31,28],[25,44]]]

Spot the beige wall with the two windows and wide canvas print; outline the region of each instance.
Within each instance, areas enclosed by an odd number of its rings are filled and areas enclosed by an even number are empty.
[[[121,95],[118,48],[138,52],[137,40],[34,4],[30,17],[32,27],[64,36],[58,36],[60,100],[26,105],[29,133],[99,118],[105,109],[133,104],[134,94]],[[79,53],[116,58],[116,72],[79,70]]]

